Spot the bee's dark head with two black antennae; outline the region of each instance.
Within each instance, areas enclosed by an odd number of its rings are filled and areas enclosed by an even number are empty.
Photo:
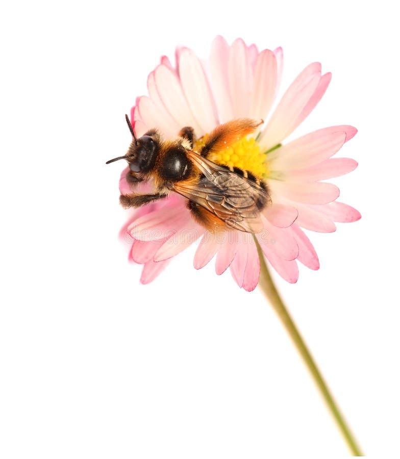
[[[152,136],[152,134],[156,134],[156,131],[149,131],[146,135],[137,139],[128,115],[125,115],[125,118],[133,137],[131,145],[126,155],[113,158],[107,161],[106,164],[124,159],[128,161],[129,168],[132,172],[147,172],[154,166],[156,160],[157,142]]]

